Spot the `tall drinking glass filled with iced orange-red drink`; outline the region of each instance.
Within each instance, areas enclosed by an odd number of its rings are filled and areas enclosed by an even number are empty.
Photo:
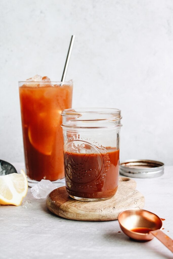
[[[64,178],[61,112],[72,106],[73,82],[19,82],[26,174],[30,182]]]

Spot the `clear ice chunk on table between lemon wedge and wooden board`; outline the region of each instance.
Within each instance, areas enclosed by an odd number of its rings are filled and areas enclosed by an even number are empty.
[[[31,192],[34,198],[43,199],[46,198],[47,195],[56,188],[56,185],[54,185],[51,181],[42,179],[39,183],[31,188]]]

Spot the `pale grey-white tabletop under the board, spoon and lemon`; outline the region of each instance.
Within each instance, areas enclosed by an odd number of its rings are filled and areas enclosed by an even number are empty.
[[[22,163],[13,163],[19,172]],[[173,238],[173,166],[151,179],[134,178],[145,197],[144,209],[164,218],[163,232]],[[30,188],[22,206],[0,206],[0,258],[173,258],[154,238],[146,243],[131,241],[117,220],[74,221],[60,218],[47,209],[45,199],[33,198]],[[118,233],[121,231],[121,233]],[[169,231],[169,232],[168,232]]]

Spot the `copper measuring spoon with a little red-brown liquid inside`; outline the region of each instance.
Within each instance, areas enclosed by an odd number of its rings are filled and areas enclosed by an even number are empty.
[[[121,230],[132,239],[150,241],[154,236],[173,252],[173,240],[160,228],[162,220],[154,213],[146,210],[128,209],[118,215]]]

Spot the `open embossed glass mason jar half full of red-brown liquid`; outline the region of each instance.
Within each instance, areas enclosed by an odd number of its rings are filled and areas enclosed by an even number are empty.
[[[65,184],[70,197],[100,201],[118,188],[121,110],[63,110]]]

